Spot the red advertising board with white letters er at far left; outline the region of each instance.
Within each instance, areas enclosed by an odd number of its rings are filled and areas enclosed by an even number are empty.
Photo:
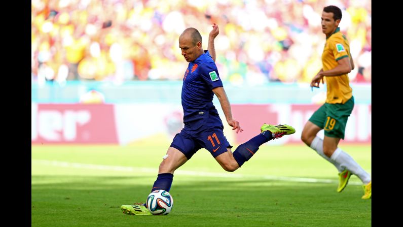
[[[114,105],[34,104],[31,143],[118,144]]]

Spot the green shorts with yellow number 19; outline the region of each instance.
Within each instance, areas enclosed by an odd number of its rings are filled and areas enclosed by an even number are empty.
[[[309,121],[324,129],[327,137],[341,138],[344,140],[347,119],[354,108],[354,97],[351,97],[345,104],[323,104]]]

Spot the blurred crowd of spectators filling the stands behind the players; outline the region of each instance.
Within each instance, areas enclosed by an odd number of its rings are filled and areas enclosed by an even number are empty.
[[[343,10],[341,31],[356,64],[352,82],[371,82],[371,1],[32,0],[32,80],[181,80],[178,36],[196,27],[207,49],[213,22],[217,67],[233,84],[310,82],[321,68],[320,12]]]

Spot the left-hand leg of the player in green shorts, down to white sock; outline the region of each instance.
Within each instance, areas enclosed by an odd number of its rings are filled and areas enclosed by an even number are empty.
[[[301,140],[315,150],[321,157],[326,159],[329,163],[332,163],[339,173],[342,173],[344,168],[323,153],[323,140],[316,136],[317,133],[323,129],[325,120],[326,107],[325,105],[322,105],[318,110],[315,111],[315,113],[312,114],[311,118],[305,124],[301,133]]]

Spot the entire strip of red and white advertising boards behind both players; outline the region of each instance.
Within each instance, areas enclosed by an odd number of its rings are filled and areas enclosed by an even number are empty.
[[[180,105],[32,103],[31,106],[32,144],[124,145],[156,135],[170,143],[183,127]],[[302,143],[302,129],[319,107],[314,104],[232,105],[233,117],[244,131],[235,134],[229,130],[226,135],[230,142],[241,144],[258,135],[263,123],[286,123],[295,127],[296,133],[270,144]],[[371,110],[368,104],[354,106],[343,143],[371,143]],[[223,113],[221,117],[227,125]],[[318,136],[323,137],[323,131]]]

